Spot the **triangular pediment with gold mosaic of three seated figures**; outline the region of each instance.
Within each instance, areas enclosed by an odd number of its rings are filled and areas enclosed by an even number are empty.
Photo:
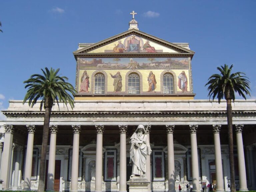
[[[188,54],[194,52],[175,43],[132,29],[94,44],[85,44],[75,57],[87,54]],[[81,46],[82,47],[82,46]]]

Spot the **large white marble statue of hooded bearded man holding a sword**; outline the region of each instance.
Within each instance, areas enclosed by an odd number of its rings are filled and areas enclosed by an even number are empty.
[[[130,163],[133,163],[131,177],[145,176],[146,173],[146,157],[152,152],[146,131],[143,125],[139,125],[131,136]]]

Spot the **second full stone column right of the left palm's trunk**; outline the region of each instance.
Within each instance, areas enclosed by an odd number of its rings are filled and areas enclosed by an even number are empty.
[[[71,190],[78,192],[78,164],[79,164],[79,135],[81,125],[72,125],[73,128],[73,150],[72,150],[72,167],[71,167]]]

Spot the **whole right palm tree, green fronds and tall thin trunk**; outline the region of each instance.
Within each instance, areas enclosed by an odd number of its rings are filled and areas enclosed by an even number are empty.
[[[227,123],[228,123],[228,145],[229,145],[229,165],[230,165],[230,176],[231,176],[231,192],[235,192],[235,168],[234,168],[234,153],[233,153],[233,124],[232,124],[232,106],[231,101],[235,100],[235,92],[246,99],[246,95],[250,95],[250,81],[245,77],[244,73],[236,72],[231,73],[233,65],[228,67],[224,65],[217,67],[220,74],[213,74],[209,77],[208,82],[205,86],[208,86],[208,96],[212,100],[215,97],[218,98],[220,103],[223,97],[227,102]]]

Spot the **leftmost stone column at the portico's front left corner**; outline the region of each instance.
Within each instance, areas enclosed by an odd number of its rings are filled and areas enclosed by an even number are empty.
[[[3,189],[9,189],[10,180],[10,168],[11,168],[11,155],[12,155],[12,139],[13,139],[13,126],[4,125],[4,151],[2,158],[2,169],[1,169],[1,179],[3,180]]]

